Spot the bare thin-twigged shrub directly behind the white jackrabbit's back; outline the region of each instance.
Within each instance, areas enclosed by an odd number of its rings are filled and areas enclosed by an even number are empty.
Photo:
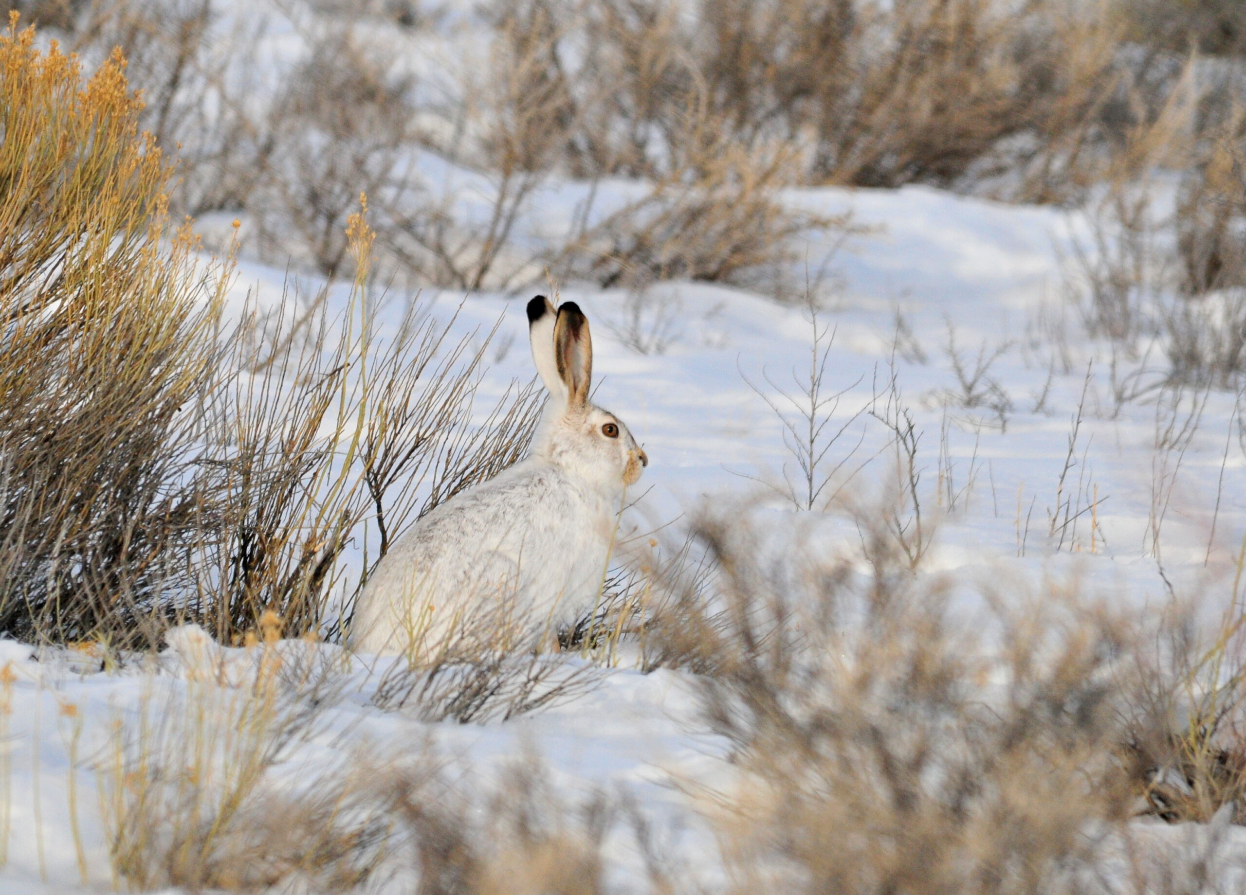
[[[197,466],[214,504],[201,517],[194,601],[182,612],[224,642],[265,610],[294,632],[340,631],[409,523],[531,443],[541,411],[532,383],[512,382],[473,418],[492,332],[451,340],[454,320],[421,317],[414,305],[392,334],[375,329],[363,281],[371,239],[353,217],[358,279],[341,314],[321,300],[302,317],[267,320],[253,340],[234,339],[204,411],[208,449]],[[242,335],[254,322],[244,320]],[[345,579],[340,560],[355,539],[363,568]],[[336,617],[326,617],[334,593]]]

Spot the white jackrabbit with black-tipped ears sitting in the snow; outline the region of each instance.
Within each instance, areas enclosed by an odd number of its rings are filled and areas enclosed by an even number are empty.
[[[593,346],[574,302],[532,299],[528,339],[549,391],[532,454],[394,544],[359,597],[353,649],[430,658],[471,625],[535,636],[593,607],[624,489],[649,458],[588,401]]]

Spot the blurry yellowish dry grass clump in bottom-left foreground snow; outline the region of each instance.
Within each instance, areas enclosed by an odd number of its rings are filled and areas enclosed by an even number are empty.
[[[297,876],[343,891],[380,863],[392,795],[366,756],[275,785],[290,749],[323,728],[336,686],[314,644],[279,636],[268,615],[227,655],[202,630],[178,629],[184,688],[151,678],[138,716],[115,722],[97,773],[127,885],[255,891]]]

